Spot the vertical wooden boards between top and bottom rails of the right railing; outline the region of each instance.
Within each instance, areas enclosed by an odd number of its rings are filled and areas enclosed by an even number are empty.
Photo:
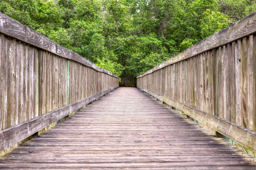
[[[256,35],[137,78],[137,85],[256,130]]]

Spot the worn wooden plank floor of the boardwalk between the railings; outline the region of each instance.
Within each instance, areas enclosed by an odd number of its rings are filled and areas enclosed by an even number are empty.
[[[256,169],[256,159],[137,88],[119,87],[0,158],[0,169]]]

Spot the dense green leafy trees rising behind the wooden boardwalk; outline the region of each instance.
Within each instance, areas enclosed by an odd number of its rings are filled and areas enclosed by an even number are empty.
[[[256,11],[256,0],[0,0],[0,11],[134,77]]]

